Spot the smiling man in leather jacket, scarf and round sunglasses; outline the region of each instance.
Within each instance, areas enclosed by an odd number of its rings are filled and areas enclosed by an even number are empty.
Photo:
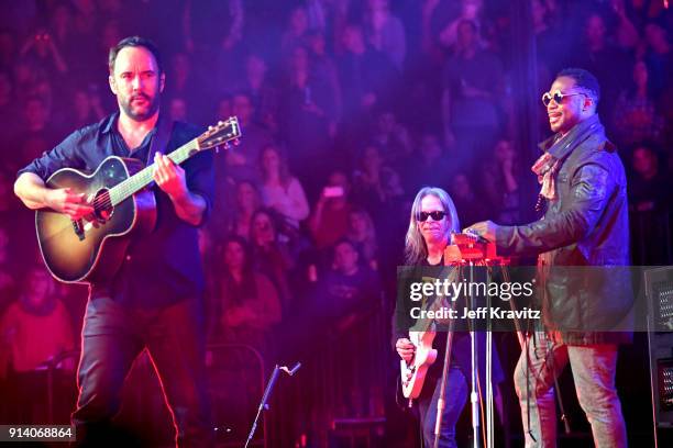
[[[615,329],[630,328],[633,304],[626,175],[596,114],[599,97],[596,78],[576,68],[562,70],[542,97],[555,132],[532,167],[544,216],[470,227],[499,255],[539,255],[544,328],[529,337],[515,371],[527,447],[556,444],[553,383],[569,362],[595,445],[627,446],[615,389],[618,344],[631,337]]]

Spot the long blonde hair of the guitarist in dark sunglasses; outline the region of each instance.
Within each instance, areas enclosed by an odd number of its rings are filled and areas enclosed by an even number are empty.
[[[405,264],[406,265],[419,265],[426,258],[428,258],[428,246],[426,239],[420,233],[418,227],[418,216],[421,211],[421,201],[427,195],[433,195],[440,200],[442,208],[446,213],[446,220],[449,220],[449,228],[446,229],[446,242],[450,239],[451,232],[460,232],[461,224],[459,222],[457,212],[453,200],[448,192],[438,187],[423,187],[416,194],[413,204],[411,205],[411,216],[409,217],[409,228],[407,229],[407,236],[405,238]]]

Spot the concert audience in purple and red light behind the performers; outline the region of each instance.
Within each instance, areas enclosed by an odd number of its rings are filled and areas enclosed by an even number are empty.
[[[630,208],[649,216],[637,228],[646,233],[671,203],[673,14],[654,0],[530,3],[536,94],[563,67],[596,75],[598,113],[628,168]],[[199,229],[208,335],[252,345],[273,362],[283,356],[276,336],[307,315],[300,309],[344,333],[382,294],[391,312],[395,267],[421,187],[449,191],[466,225],[520,223],[528,206],[521,179],[532,175],[529,149],[514,144],[509,8],[496,0],[3,5],[0,373],[3,362],[23,369],[10,356],[22,340],[21,316],[63,321],[62,339],[52,339],[53,352],[38,351],[40,362],[75,346],[81,290],[53,288],[57,303],[69,305],[64,320],[60,305],[31,305],[33,287],[20,281],[42,273],[30,270],[38,262],[32,215],[11,184],[19,168],[115,109],[101,55],[121,37],[143,34],[163,49],[162,113],[202,126],[229,116],[241,123],[240,145],[214,155],[218,195]],[[540,133],[549,135],[545,122]],[[657,228],[670,240],[670,228]],[[671,262],[665,250],[635,256]]]

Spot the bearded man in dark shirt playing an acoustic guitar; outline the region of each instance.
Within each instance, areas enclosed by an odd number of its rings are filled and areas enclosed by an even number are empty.
[[[82,445],[122,446],[111,421],[119,411],[124,378],[147,348],[172,411],[176,444],[209,446],[205,282],[197,226],[212,203],[212,155],[202,152],[180,167],[162,154],[199,132],[185,123],[170,125],[159,114],[166,77],[154,44],[137,36],[122,40],[110,49],[109,69],[119,111],[70,134],[19,171],[14,184],[14,192],[30,209],[48,208],[77,223],[95,212],[91,199],[74,189],[47,188],[45,181],[56,170],[93,172],[109,156],[143,165],[154,161],[154,231],[131,240],[111,278],[90,283],[73,423]],[[153,141],[164,142],[165,147],[156,147]],[[79,232],[86,237],[86,228]]]

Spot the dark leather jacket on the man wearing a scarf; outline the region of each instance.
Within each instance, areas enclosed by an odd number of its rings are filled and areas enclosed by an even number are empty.
[[[554,339],[571,345],[630,341],[627,182],[616,147],[593,115],[540,148],[565,158],[555,179],[556,198],[541,220],[499,226],[497,250],[540,255],[538,300]]]

